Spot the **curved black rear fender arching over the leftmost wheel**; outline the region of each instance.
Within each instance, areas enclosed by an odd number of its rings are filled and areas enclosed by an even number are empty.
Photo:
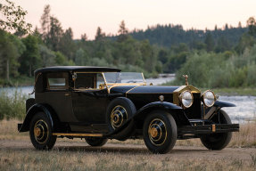
[[[54,111],[51,109],[50,106],[48,106],[47,104],[39,104],[36,103],[33,106],[31,106],[27,112],[26,118],[24,119],[23,124],[18,128],[19,128],[19,132],[26,132],[29,131],[29,124],[31,119],[34,117],[34,115],[39,112],[39,111],[43,111],[46,116],[49,118],[51,126],[54,128],[54,119],[52,117]]]

